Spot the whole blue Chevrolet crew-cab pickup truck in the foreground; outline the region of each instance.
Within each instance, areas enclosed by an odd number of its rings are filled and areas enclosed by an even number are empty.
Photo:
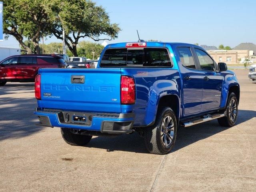
[[[166,154],[178,126],[234,126],[240,86],[199,46],[128,42],[106,46],[97,69],[40,69],[35,95],[38,125],[60,127],[70,145],[138,132],[150,153]]]

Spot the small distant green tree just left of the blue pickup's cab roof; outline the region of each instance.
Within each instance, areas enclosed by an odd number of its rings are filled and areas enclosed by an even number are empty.
[[[80,57],[86,57],[93,59],[94,52],[94,59],[98,58],[104,49],[104,46],[94,42],[82,41],[79,42],[77,46],[77,54]]]

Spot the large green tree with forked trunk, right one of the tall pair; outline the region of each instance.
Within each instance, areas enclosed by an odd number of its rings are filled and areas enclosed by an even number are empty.
[[[120,28],[118,24],[110,23],[108,13],[101,6],[90,0],[62,0],[60,4],[56,16],[53,15],[58,21],[54,22],[51,32],[62,40],[64,28],[66,45],[74,56],[78,56],[76,46],[80,38],[88,37],[94,41],[117,38]]]

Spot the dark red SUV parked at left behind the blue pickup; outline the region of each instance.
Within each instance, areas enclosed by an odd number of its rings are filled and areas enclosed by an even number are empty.
[[[0,62],[0,86],[6,82],[34,82],[39,68],[58,68],[65,64],[56,55],[16,55]]]

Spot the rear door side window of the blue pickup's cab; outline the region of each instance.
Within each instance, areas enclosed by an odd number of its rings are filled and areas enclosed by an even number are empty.
[[[178,54],[180,57],[180,61],[182,62],[182,65],[191,68],[196,69],[196,64],[194,62],[194,58],[192,56],[192,52],[189,47],[178,47]]]

